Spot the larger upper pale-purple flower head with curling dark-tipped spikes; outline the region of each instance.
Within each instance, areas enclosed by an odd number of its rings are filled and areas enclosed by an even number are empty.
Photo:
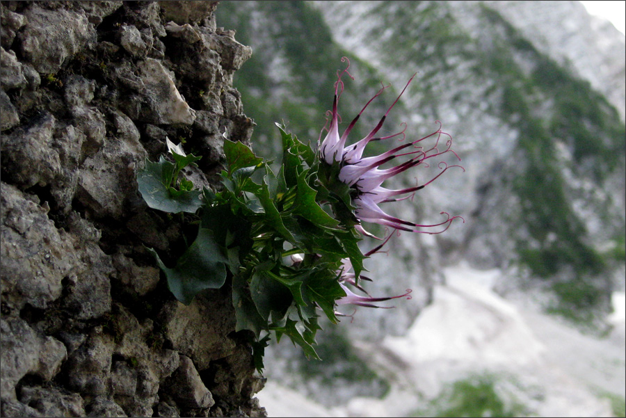
[[[348,61],[348,58],[342,58],[342,62]],[[383,127],[383,123],[387,118],[387,115],[398,102],[412,79],[415,77],[411,77],[404,86],[400,95],[396,98],[395,102],[387,109],[383,118],[380,119],[380,122],[376,124],[376,127],[372,129],[367,136],[359,140],[357,143],[353,145],[346,146],[346,140],[348,138],[348,134],[355,126],[356,122],[359,120],[361,113],[369,106],[369,104],[376,99],[383,90],[388,86],[383,86],[378,93],[372,97],[367,104],[361,109],[361,111],[356,115],[356,117],[352,120],[352,122],[348,125],[344,133],[339,136],[339,114],[337,113],[337,103],[339,101],[339,97],[341,96],[344,90],[344,83],[342,81],[342,75],[344,73],[348,74],[349,77],[353,78],[351,74],[348,72],[348,67],[350,67],[350,63],[348,61],[348,66],[342,72],[338,72],[337,74],[337,82],[335,83],[335,99],[332,102],[332,113],[330,113],[330,127],[328,127],[328,134],[326,138],[324,138],[319,144],[319,155],[323,161],[332,165],[339,164],[339,181],[348,184],[354,190],[353,204],[356,207],[355,216],[364,222],[372,222],[378,223],[380,225],[385,225],[387,227],[395,228],[396,230],[410,231],[410,232],[419,232],[423,234],[440,234],[448,229],[451,225],[452,221],[456,218],[461,218],[465,223],[465,220],[461,216],[450,216],[447,212],[440,212],[440,214],[446,216],[446,219],[440,223],[435,223],[432,225],[420,225],[417,223],[409,222],[408,220],[402,220],[399,218],[395,218],[394,216],[390,216],[386,214],[380,207],[378,206],[380,203],[384,202],[394,202],[396,200],[404,200],[406,198],[411,198],[412,193],[418,191],[424,186],[427,186],[435,179],[437,179],[440,175],[446,172],[451,167],[460,167],[463,171],[465,169],[461,166],[448,166],[447,163],[441,161],[438,163],[438,167],[442,170],[438,175],[436,175],[430,181],[414,187],[408,187],[398,190],[391,190],[388,188],[384,188],[381,186],[385,180],[394,177],[395,175],[399,175],[401,172],[409,170],[410,168],[417,167],[420,165],[428,166],[428,160],[441,156],[443,154],[451,153],[456,156],[456,158],[460,161],[459,156],[451,150],[452,140],[449,134],[446,134],[441,131],[441,123],[439,123],[439,129],[428,136],[424,136],[423,138],[419,138],[417,140],[412,140],[400,145],[398,147],[394,147],[392,150],[387,152],[383,152],[378,156],[371,157],[363,157],[363,151],[366,145],[375,140],[385,140],[388,138],[394,138],[395,136],[402,135],[403,139],[406,138],[404,132],[406,131],[406,124],[404,124],[403,131],[385,137],[378,137],[376,134]],[[326,127],[324,127],[326,129]],[[445,148],[439,150],[438,145],[440,143],[441,136],[448,136],[449,139],[446,142]],[[321,136],[320,136],[321,137]],[[431,139],[434,140],[434,145],[432,146],[424,146],[422,145],[422,141]],[[403,162],[392,168],[381,169],[380,166],[388,163],[394,159],[398,159],[400,157],[405,157]],[[411,193],[411,194],[409,194]],[[401,198],[397,198],[398,196],[404,195]],[[444,226],[442,230],[432,232],[428,230],[422,230],[419,228],[429,228],[429,227],[440,227]],[[368,232],[366,232],[361,225],[357,225],[357,229],[362,232],[362,234],[366,234],[371,236]]]

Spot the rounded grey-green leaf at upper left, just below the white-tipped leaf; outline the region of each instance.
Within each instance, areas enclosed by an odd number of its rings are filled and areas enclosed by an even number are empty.
[[[152,209],[177,214],[195,211],[202,206],[200,191],[177,191],[170,187],[174,164],[161,156],[158,163],[145,160],[145,168],[137,172],[139,193]]]

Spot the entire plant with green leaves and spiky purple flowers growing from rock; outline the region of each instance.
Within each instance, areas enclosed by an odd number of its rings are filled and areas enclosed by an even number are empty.
[[[347,59],[342,58],[342,61]],[[445,216],[442,222],[420,225],[394,218],[380,209],[379,205],[385,202],[412,197],[412,193],[453,166],[440,162],[441,172],[433,179],[399,190],[380,186],[385,179],[413,167],[428,166],[426,161],[442,154],[451,153],[459,158],[451,150],[451,139],[440,145],[440,138],[447,136],[441,129],[406,141],[378,156],[363,156],[364,148],[371,141],[400,135],[404,138],[404,131],[376,136],[399,97],[365,138],[346,145],[348,134],[361,113],[385,87],[339,136],[337,103],[344,90],[344,74],[350,76],[347,67],[338,74],[330,127],[324,127],[328,134],[318,140],[317,151],[277,124],[283,150],[278,172],[248,146],[227,139],[224,141],[226,168],[220,174],[223,185],[220,191],[206,187],[194,189],[193,183],[181,172],[195,165],[201,157],[187,155],[182,144],[175,145],[169,139],[173,162],[161,156],[156,163],[145,161],[145,168],[138,172],[139,191],[149,207],[171,214],[198,212],[200,216],[195,241],[175,266],[166,266],[157,252],[150,250],[166,274],[170,291],[177,300],[188,305],[198,292],[218,289],[228,277],[232,278],[236,330],[254,332],[252,347],[259,371],[263,367],[262,357],[270,332],[274,332],[277,340],[287,335],[303,348],[307,357],[319,358],[313,344],[317,330],[321,329],[320,311],[332,323],[337,323],[337,316],[343,315],[337,311],[338,305],[379,307],[374,303],[403,296],[410,298],[410,289],[399,296],[369,296],[361,284],[361,280],[370,280],[361,275],[364,259],[380,252],[396,232],[440,234],[455,218],[460,218],[442,212]],[[431,144],[423,145],[427,140],[431,140]],[[405,161],[392,168],[379,168],[399,159]],[[261,181],[256,182],[253,177],[261,177]],[[363,235],[373,235],[364,230],[362,222],[378,223],[393,230],[386,239],[381,239],[383,243],[363,253],[359,241]]]

